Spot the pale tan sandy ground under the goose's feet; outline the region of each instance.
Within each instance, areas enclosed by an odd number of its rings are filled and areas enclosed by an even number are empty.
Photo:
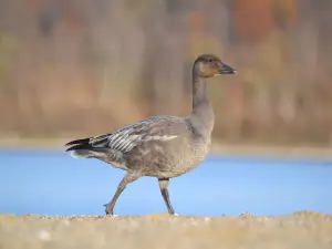
[[[331,249],[332,215],[169,217],[0,215],[0,248]]]

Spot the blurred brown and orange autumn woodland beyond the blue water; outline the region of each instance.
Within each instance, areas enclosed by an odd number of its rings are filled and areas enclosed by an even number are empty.
[[[0,137],[111,132],[186,115],[191,65],[215,53],[214,141],[332,142],[329,0],[0,0]]]

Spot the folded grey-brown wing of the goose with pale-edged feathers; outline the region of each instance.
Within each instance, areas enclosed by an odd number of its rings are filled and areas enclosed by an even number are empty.
[[[170,126],[174,128],[168,128]],[[94,148],[111,148],[121,153],[128,153],[144,142],[166,142],[176,138],[178,127],[184,127],[183,120],[179,117],[152,116],[114,133],[92,137],[89,144]]]

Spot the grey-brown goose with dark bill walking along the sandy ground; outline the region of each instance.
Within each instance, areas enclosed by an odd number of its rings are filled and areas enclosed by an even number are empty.
[[[207,93],[208,79],[236,74],[237,70],[214,54],[200,54],[193,64],[193,105],[187,116],[154,115],[113,133],[71,141],[65,152],[75,158],[96,158],[125,170],[105,214],[114,207],[126,186],[139,177],[155,177],[170,216],[169,179],[196,168],[211,145],[215,112]]]

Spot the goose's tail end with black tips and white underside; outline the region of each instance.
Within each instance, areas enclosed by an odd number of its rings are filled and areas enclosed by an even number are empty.
[[[89,158],[94,157],[93,147],[89,143],[90,137],[83,139],[71,141],[65,144],[65,146],[70,146],[65,152],[71,152],[71,156],[74,158]]]

